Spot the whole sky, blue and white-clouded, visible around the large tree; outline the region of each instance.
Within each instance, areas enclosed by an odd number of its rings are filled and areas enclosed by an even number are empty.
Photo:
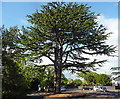
[[[69,0],[67,1],[69,2]],[[88,1],[91,1],[91,0],[88,0]],[[77,2],[77,3],[80,4],[81,2]],[[91,6],[91,11],[96,12],[96,14],[101,13],[101,16],[98,17],[98,22],[100,24],[104,24],[104,26],[108,29],[107,32],[113,32],[111,37],[108,39],[107,44],[112,44],[117,46],[118,45],[118,2],[117,0],[114,0],[114,2],[112,0],[110,0],[110,2],[87,2],[86,1],[84,3],[87,3],[88,6]],[[7,2],[7,0],[5,0],[4,2],[2,2],[2,25],[5,25],[6,28],[9,28],[10,26],[16,26],[16,25],[19,28],[21,28],[22,25],[26,27],[30,26],[30,23],[27,22],[28,18],[26,17],[26,15],[31,15],[32,13],[35,13],[36,9],[40,10],[41,9],[40,6],[45,4],[47,4],[47,2],[14,2],[14,0],[13,2]],[[103,64],[102,68],[97,70],[97,73],[111,74],[110,68],[112,66],[118,65],[117,57],[98,56],[97,58],[108,60],[108,62]],[[91,60],[92,59],[94,59],[94,57],[91,57]],[[51,61],[43,57],[43,64],[44,63],[46,64],[51,63]],[[72,79],[77,78],[75,74],[69,74],[68,71],[65,71],[64,74],[67,78],[72,78]]]

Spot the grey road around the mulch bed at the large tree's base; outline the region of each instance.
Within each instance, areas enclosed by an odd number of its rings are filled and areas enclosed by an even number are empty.
[[[107,92],[96,92],[94,90],[81,90],[78,88],[68,89],[66,92],[76,92],[76,93],[84,93],[83,98],[77,98],[77,99],[93,99],[93,98],[109,98],[109,99],[120,99],[120,90],[109,90]],[[50,93],[48,93],[50,94]],[[43,93],[31,93],[28,94],[28,99],[44,99],[43,96],[45,94]]]

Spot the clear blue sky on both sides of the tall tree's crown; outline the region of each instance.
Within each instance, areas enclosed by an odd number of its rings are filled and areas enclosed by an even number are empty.
[[[6,27],[28,25],[26,15],[32,14],[36,9],[47,2],[3,2],[2,3],[2,24]],[[80,4],[80,2],[79,2]],[[106,18],[118,17],[117,2],[87,2],[92,6],[91,10],[102,13]]]

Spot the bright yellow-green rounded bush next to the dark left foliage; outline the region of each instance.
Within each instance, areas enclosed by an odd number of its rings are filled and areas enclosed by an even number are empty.
[[[37,66],[33,63],[27,63],[23,66],[20,66],[21,68],[21,74],[25,77],[25,81],[27,84],[28,89],[30,89],[31,84],[36,82],[36,86],[34,86],[34,89],[37,89],[37,85],[40,84],[40,82],[43,81],[44,75],[45,75],[45,67],[43,66]]]

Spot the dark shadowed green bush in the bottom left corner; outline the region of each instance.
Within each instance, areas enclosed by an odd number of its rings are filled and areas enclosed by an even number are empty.
[[[3,58],[3,57],[2,57]],[[5,63],[5,64],[4,64]],[[3,99],[21,99],[26,95],[24,77],[19,74],[18,66],[12,60],[3,58],[3,79],[2,96]]]

